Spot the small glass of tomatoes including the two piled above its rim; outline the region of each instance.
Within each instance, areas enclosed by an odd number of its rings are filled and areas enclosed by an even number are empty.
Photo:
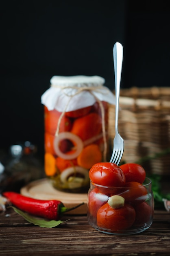
[[[89,177],[87,218],[92,227],[108,234],[137,234],[152,225],[151,180],[142,166],[129,164],[121,169],[101,162],[92,166]]]

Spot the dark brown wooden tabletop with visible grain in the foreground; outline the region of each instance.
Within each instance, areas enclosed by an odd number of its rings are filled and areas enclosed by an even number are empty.
[[[13,209],[0,213],[0,255],[170,255],[170,213],[155,211],[153,225],[129,236],[107,235],[89,226],[87,216],[70,218],[55,228],[41,228],[26,222]]]

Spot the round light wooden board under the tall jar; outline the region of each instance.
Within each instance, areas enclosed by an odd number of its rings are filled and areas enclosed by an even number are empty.
[[[74,207],[84,202],[80,207],[68,211],[67,214],[86,214],[87,213],[87,193],[66,193],[54,189],[47,179],[36,180],[21,188],[22,195],[41,199],[59,200],[65,207]]]

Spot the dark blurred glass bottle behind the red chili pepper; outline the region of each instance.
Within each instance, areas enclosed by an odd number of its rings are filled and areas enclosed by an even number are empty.
[[[9,155],[2,162],[0,193],[7,190],[20,192],[22,186],[43,177],[44,167],[36,152],[37,147],[29,141],[10,146]]]

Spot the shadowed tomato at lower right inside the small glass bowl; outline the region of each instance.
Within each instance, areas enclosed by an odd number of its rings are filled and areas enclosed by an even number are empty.
[[[136,226],[145,226],[146,223],[152,222],[153,219],[153,207],[148,205],[146,202],[135,205],[135,222]]]

